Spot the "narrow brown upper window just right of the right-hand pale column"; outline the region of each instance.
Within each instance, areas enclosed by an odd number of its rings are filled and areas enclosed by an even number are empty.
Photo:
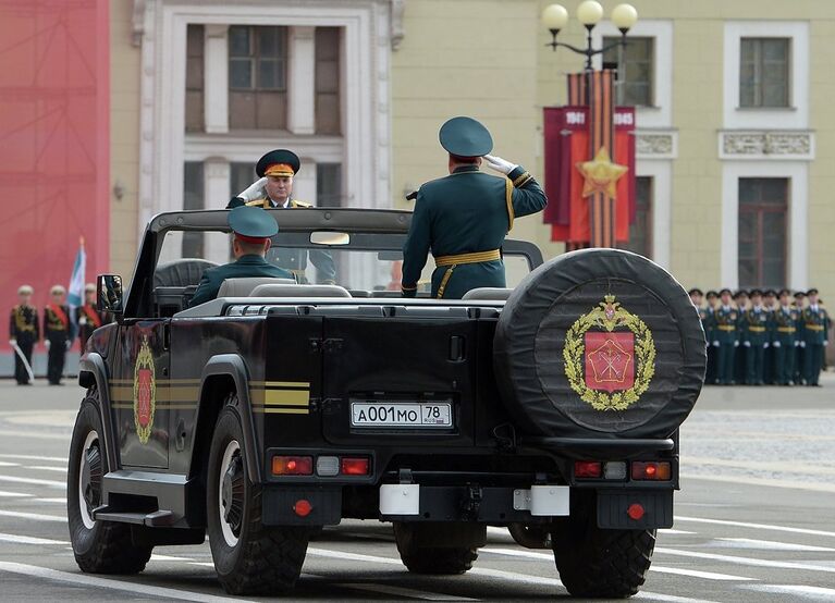
[[[340,29],[316,28],[316,133],[342,133],[340,111]]]

